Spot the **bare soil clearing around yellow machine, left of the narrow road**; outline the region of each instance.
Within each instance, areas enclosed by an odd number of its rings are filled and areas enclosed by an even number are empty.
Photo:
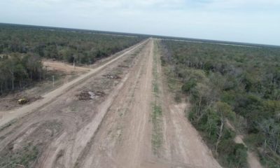
[[[43,94],[55,90],[57,87],[64,85],[65,83],[69,83],[71,80],[77,78],[83,73],[90,71],[90,69],[78,66],[74,69],[73,66],[69,64],[50,60],[44,60],[43,66],[48,73],[55,76],[55,85],[52,86],[52,78],[46,78],[45,80],[42,80],[35,85],[31,85],[22,91],[16,91],[5,96],[1,96],[0,118],[1,113],[22,107],[21,104],[18,104],[18,99],[28,99],[28,104],[31,104],[32,102],[41,99]]]

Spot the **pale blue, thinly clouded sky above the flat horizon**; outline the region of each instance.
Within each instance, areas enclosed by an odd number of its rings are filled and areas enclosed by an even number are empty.
[[[0,22],[280,45],[280,0],[0,0]]]

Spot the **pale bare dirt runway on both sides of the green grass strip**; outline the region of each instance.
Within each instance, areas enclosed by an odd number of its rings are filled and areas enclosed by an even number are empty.
[[[220,167],[185,118],[186,104],[170,103],[172,101],[165,97],[165,92],[160,95],[166,108],[163,115],[165,124],[162,125],[165,127],[165,141],[158,149],[160,154],[153,153],[151,106],[154,48],[151,41],[141,53],[139,64],[130,71],[127,82],[112,102],[99,131],[80,158],[78,167]],[[157,59],[159,62],[159,55]],[[160,87],[163,87],[162,81]]]

